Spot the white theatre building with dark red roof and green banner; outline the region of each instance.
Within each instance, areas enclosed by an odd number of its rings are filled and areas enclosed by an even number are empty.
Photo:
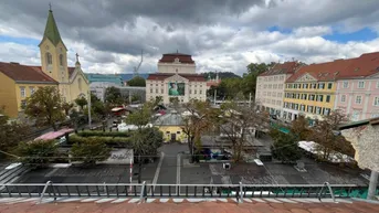
[[[164,54],[158,62],[158,73],[146,79],[146,100],[161,96],[164,104],[171,98],[180,103],[190,99],[206,100],[207,82],[202,75],[196,74],[196,64],[191,55],[181,53]]]

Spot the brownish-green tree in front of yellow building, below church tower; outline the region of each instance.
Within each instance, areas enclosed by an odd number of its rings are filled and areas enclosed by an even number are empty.
[[[64,120],[62,97],[56,87],[41,87],[27,98],[24,113],[34,118],[38,126],[50,125],[56,130],[56,123]]]

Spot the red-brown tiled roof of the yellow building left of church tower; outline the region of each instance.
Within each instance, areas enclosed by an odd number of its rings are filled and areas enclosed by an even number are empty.
[[[27,66],[19,63],[0,62],[0,72],[15,82],[57,84],[56,81],[42,72],[41,66]]]

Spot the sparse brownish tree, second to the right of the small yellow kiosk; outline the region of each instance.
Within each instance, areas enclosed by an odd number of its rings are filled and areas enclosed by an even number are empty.
[[[254,103],[240,106],[235,102],[221,105],[214,123],[219,126],[221,135],[227,137],[233,149],[234,161],[242,160],[243,147],[254,138],[255,131],[269,129],[269,115],[256,110]]]

